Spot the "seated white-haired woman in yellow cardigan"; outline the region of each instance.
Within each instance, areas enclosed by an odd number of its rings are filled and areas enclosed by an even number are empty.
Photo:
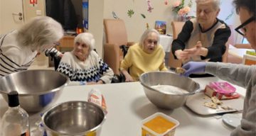
[[[166,71],[164,56],[164,49],[159,45],[158,31],[146,30],[139,43],[129,47],[127,55],[122,60],[120,70],[125,81],[138,81],[144,72]]]

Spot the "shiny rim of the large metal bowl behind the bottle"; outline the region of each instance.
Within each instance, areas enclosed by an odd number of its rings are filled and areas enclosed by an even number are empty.
[[[48,69],[31,69],[29,71],[53,71],[53,70],[48,70]],[[26,71],[22,71],[22,72],[26,72]],[[55,71],[53,71],[55,72]],[[20,73],[20,72],[18,72]],[[16,72],[14,73],[16,74]],[[31,92],[30,94],[18,94],[18,96],[31,96],[31,95],[41,95],[41,94],[49,94],[49,93],[53,93],[55,91],[60,91],[61,89],[63,89],[65,86],[68,86],[70,79],[65,76],[65,74],[62,74],[60,72],[58,72],[58,74],[61,74],[63,77],[65,77],[66,82],[65,84],[63,84],[62,86],[59,86],[58,88],[55,89],[51,89],[51,90],[47,90],[47,91],[40,91],[40,92]],[[6,77],[8,77],[9,75],[6,75]],[[8,92],[0,90],[0,94],[8,94]]]

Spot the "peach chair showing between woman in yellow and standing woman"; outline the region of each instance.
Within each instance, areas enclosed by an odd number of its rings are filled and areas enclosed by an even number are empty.
[[[180,21],[172,21],[171,22],[174,40],[178,37],[178,33],[181,33],[181,30],[182,30],[184,24],[185,24],[185,22],[180,22]],[[181,67],[182,62],[180,60],[174,59],[174,55],[172,54],[172,52],[170,52],[168,64],[169,64],[170,68],[176,68],[176,67]]]

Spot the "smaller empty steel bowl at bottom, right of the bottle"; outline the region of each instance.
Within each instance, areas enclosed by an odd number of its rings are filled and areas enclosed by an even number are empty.
[[[68,101],[43,114],[48,136],[99,136],[105,114],[100,106],[87,101]]]

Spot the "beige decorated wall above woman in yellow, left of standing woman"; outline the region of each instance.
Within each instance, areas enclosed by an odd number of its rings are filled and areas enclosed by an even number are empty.
[[[151,0],[151,5],[154,9],[149,13],[146,0],[105,0],[104,18],[113,18],[112,11],[114,11],[125,22],[128,40],[138,41],[144,30],[146,30],[146,23],[149,23],[150,28],[154,28],[155,21],[166,21],[166,33],[171,33],[171,20],[174,18],[170,6],[172,2],[174,1],[169,1],[169,4],[166,6],[164,0]],[[134,10],[132,18],[127,16],[129,9]],[[142,18],[141,13],[146,18]]]

